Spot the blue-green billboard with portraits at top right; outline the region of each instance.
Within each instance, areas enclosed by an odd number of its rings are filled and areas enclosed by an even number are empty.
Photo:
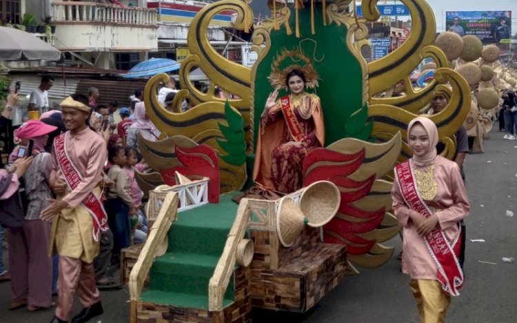
[[[474,35],[483,43],[511,38],[511,11],[447,11],[445,30],[460,36]]]

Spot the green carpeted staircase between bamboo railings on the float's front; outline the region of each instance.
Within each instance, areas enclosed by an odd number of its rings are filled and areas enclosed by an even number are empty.
[[[149,291],[143,302],[192,309],[207,309],[208,284],[223,253],[237,208],[232,197],[178,214],[168,233],[168,251],[156,257],[150,271]],[[234,300],[234,277],[225,293],[225,306]]]

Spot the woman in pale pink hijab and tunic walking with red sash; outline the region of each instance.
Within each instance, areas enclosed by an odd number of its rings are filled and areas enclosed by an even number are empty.
[[[407,134],[413,157],[395,167],[392,188],[403,225],[403,273],[411,277],[420,322],[444,322],[451,296],[463,286],[460,220],[470,206],[458,165],[436,154],[434,122],[417,117]]]

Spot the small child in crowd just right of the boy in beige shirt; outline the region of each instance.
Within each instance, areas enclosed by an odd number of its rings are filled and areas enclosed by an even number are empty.
[[[133,198],[134,208],[136,208],[136,213],[138,214],[138,224],[136,224],[136,230],[134,232],[134,243],[140,244],[145,241],[147,238],[147,219],[143,216],[143,212],[140,211],[140,206],[142,205],[142,197],[143,192],[139,188],[139,185],[136,183],[136,179],[134,178],[134,166],[139,163],[139,153],[133,147],[125,148],[125,166],[123,171],[128,175],[130,179],[131,185],[131,195]],[[141,158],[140,158],[141,159]]]

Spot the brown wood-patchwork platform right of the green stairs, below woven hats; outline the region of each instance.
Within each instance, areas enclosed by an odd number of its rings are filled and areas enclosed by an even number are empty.
[[[251,237],[254,307],[304,313],[345,277],[345,246],[319,242],[318,229],[306,227],[290,248],[278,247],[278,237],[267,231],[251,231]]]

